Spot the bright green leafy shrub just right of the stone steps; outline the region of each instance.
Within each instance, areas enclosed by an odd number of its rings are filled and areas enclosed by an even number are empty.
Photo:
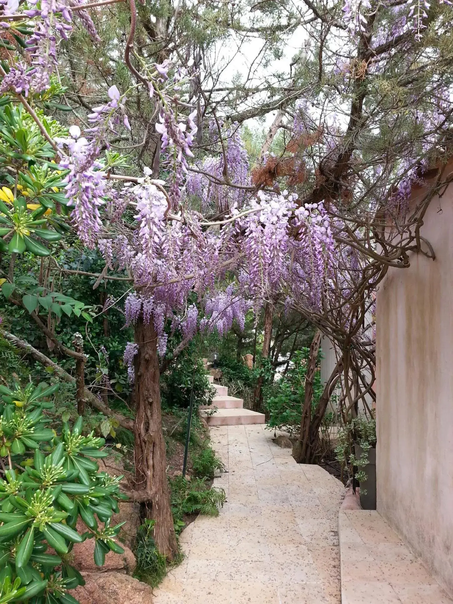
[[[305,394],[305,376],[309,349],[298,350],[292,359],[293,365],[280,381],[266,389],[265,407],[269,414],[268,427],[284,430],[290,434],[298,431],[302,417]],[[312,409],[323,393],[320,371],[313,379]]]

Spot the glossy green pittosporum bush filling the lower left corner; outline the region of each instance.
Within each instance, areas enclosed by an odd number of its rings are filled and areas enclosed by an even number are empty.
[[[85,582],[70,564],[74,543],[95,539],[98,566],[124,551],[115,541],[121,524],[110,526],[120,477],[99,472],[94,458],[108,452],[103,439],[82,434],[82,417],[72,429],[48,427],[53,403],[45,399],[57,388],[0,386],[0,604],[77,603],[69,591]]]

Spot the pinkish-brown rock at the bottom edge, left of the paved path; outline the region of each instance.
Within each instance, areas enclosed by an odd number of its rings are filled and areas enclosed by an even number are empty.
[[[150,585],[121,573],[83,573],[86,584],[71,590],[80,604],[152,604]]]

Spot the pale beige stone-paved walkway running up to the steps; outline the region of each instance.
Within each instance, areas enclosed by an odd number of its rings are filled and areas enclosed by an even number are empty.
[[[211,428],[228,502],[181,535],[186,557],[154,604],[339,604],[338,510],[344,487],[295,463],[262,425]]]

